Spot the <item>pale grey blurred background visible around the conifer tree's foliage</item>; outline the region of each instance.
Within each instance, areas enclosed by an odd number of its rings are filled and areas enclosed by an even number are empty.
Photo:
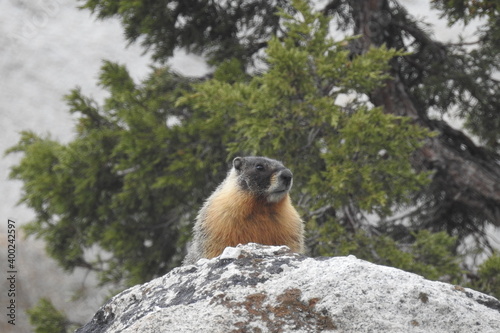
[[[401,1],[410,13],[433,24],[436,37],[455,40],[460,26],[450,29],[438,13],[431,12],[429,1]],[[19,132],[32,130],[50,134],[52,139],[69,142],[74,136],[73,120],[63,96],[81,87],[83,93],[102,101],[104,92],[96,86],[102,60],[126,64],[137,81],[146,77],[151,59],[138,45],[123,38],[117,20],[98,21],[88,10],[82,11],[76,0],[2,0],[0,1],[0,307],[7,304],[6,252],[7,219],[22,225],[34,218],[24,205],[17,205],[21,182],[8,180],[10,167],[19,163],[19,154],[3,152],[19,141]],[[466,34],[467,35],[467,34]],[[471,36],[472,33],[468,33]],[[199,57],[182,52],[170,65],[185,75],[201,75],[209,69]],[[92,291],[95,280],[84,271],[62,272],[48,258],[43,243],[17,237],[17,311],[16,326],[7,325],[1,311],[1,332],[29,332],[24,310],[40,297],[50,297],[64,309],[70,320],[87,322],[102,305],[105,291]],[[71,302],[76,291],[89,296]]]

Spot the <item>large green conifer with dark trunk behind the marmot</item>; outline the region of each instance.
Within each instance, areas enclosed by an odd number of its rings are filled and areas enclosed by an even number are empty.
[[[435,3],[467,18],[454,10],[459,1]],[[493,36],[472,51],[439,43],[388,0],[332,0],[319,11],[279,0],[83,7],[118,16],[158,63],[134,82],[124,66],[104,62],[103,103],[78,89],[67,96],[78,116],[74,141],[26,132],[9,150],[24,154],[11,175],[36,212],[27,231],[62,267],[122,286],[166,273],[180,264],[195,214],[231,158],[261,154],[294,170],[310,255],[352,253],[498,296],[498,255],[485,237],[500,224]],[[489,18],[498,8],[478,12]],[[350,37],[332,38],[332,24]],[[173,73],[161,63],[175,47],[205,55],[216,70],[199,79]],[[477,140],[436,112],[456,114]],[[468,272],[472,280],[461,261],[468,236],[490,255]],[[89,255],[96,247],[101,255]]]

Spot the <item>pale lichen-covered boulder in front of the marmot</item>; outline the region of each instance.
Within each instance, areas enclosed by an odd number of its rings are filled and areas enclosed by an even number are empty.
[[[500,302],[354,256],[240,245],[113,297],[83,332],[500,332]]]

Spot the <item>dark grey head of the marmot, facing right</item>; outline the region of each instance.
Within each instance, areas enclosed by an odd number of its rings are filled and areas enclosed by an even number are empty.
[[[292,188],[292,172],[281,162],[267,157],[236,157],[233,169],[241,189],[267,202],[279,202]]]

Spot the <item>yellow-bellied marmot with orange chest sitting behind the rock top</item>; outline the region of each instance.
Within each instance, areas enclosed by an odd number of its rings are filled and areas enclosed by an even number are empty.
[[[226,179],[200,209],[183,264],[213,258],[227,246],[259,243],[304,250],[304,227],[288,192],[293,175],[267,157],[236,157]]]

